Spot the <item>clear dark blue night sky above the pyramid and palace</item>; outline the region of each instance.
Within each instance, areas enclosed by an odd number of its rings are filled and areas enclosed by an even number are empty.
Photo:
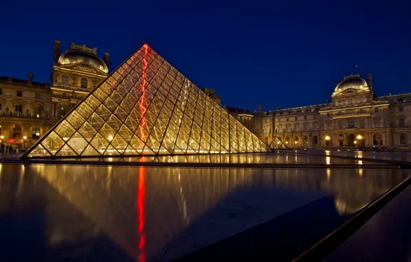
[[[202,2],[4,0],[0,75],[49,82],[59,39],[61,52],[74,41],[110,53],[110,71],[148,43],[249,110],[324,103],[356,72],[378,95],[411,92],[410,1]]]

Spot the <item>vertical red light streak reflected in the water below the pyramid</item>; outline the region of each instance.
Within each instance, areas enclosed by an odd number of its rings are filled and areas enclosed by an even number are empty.
[[[138,230],[139,245],[137,247],[137,258],[139,262],[146,261],[146,254],[144,252],[144,244],[146,236],[144,235],[144,195],[146,194],[146,168],[139,169],[139,181],[137,186],[137,216],[138,216]]]

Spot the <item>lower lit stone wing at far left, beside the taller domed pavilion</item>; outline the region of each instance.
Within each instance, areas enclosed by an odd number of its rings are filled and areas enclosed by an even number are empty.
[[[52,92],[48,83],[0,77],[0,143],[29,148],[53,125],[50,119]]]

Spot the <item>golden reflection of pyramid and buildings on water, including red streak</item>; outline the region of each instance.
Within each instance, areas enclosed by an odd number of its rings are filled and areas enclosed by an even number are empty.
[[[288,196],[332,194],[339,214],[352,214],[408,177],[402,170],[361,169],[0,168],[1,216],[42,205],[50,245],[106,234],[137,261],[145,261],[225,197],[246,188],[284,190]],[[68,214],[73,212],[68,205],[79,214]],[[87,221],[79,221],[80,216]]]

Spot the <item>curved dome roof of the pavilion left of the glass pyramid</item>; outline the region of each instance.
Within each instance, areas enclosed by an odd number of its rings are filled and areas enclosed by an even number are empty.
[[[97,57],[97,55],[90,52],[83,52],[81,50],[67,50],[66,52],[63,52],[59,58],[59,63],[61,65],[88,63],[90,66],[108,73],[107,65],[100,57]]]

